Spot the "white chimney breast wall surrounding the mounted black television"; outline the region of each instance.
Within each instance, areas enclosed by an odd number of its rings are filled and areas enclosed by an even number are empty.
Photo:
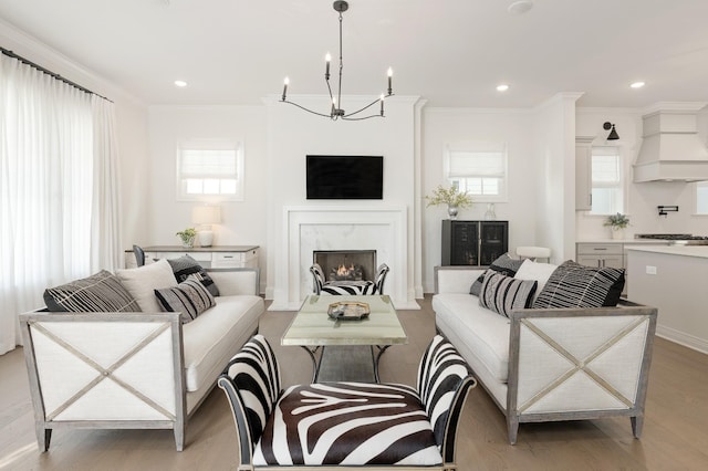
[[[327,109],[324,96],[290,96],[291,101],[313,109]],[[332,122],[267,100],[268,108],[268,245],[273,257],[268,260],[267,297],[284,297],[278,293],[277,271],[288,270],[287,240],[283,209],[288,206],[337,206],[357,208],[404,207],[408,211],[407,244],[415,244],[415,156],[416,156],[416,103],[417,96],[386,98],[386,118],[361,122]],[[342,97],[345,109],[356,109],[368,103],[368,97]],[[375,109],[376,112],[377,109]],[[322,155],[377,155],[384,156],[383,200],[327,201],[308,200],[305,195],[305,156]],[[414,286],[415,264],[413,249],[408,253],[406,290],[409,296]],[[379,261],[385,262],[385,261]],[[418,290],[419,291],[419,290]]]

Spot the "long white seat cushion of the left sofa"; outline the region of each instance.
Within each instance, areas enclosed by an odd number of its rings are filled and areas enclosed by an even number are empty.
[[[215,302],[216,306],[183,326],[188,391],[215,381],[243,343],[237,345],[244,329],[264,310],[263,299],[256,295],[218,296]]]

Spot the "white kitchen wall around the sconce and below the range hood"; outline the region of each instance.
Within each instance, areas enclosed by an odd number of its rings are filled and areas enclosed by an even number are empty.
[[[579,136],[597,136],[595,144],[605,143],[607,130],[604,122],[614,123],[620,139],[613,142],[622,149],[625,164],[627,196],[625,212],[631,226],[625,230],[626,238],[635,233],[693,233],[708,236],[708,216],[696,216],[695,185],[684,181],[649,181],[634,184],[632,165],[642,147],[643,109],[636,108],[579,108],[576,133]],[[708,111],[699,114],[699,136],[706,143],[708,135]],[[679,207],[678,212],[658,216],[657,206]],[[577,211],[576,231],[579,240],[610,239],[610,230],[603,227],[605,218]]]

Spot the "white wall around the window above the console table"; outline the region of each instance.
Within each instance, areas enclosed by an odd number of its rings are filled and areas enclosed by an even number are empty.
[[[260,245],[262,280],[268,258],[268,136],[263,106],[152,106],[150,158],[142,164],[149,175],[149,193],[142,211],[147,233],[140,244],[175,245],[175,233],[191,222],[194,201],[177,201],[177,144],[184,139],[233,139],[243,143],[243,201],[205,201],[221,206],[222,223],[214,227],[216,245]]]

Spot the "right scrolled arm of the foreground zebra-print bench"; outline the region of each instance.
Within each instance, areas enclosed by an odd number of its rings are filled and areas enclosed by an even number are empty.
[[[436,335],[420,359],[416,387],[446,462],[455,461],[459,417],[475,386],[477,380],[467,362],[452,344]]]

